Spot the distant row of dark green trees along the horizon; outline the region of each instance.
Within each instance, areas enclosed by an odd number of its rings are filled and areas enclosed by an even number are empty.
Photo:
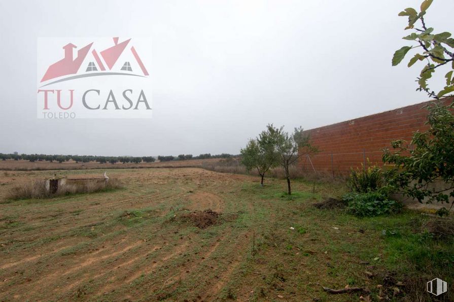
[[[211,155],[209,153],[200,154],[199,156],[192,156],[192,154],[180,154],[178,156],[158,156],[159,161],[172,161],[172,160],[188,160],[188,159],[207,159],[207,158],[229,158],[235,157],[235,155],[222,153],[217,155]],[[14,153],[0,153],[0,160],[7,160],[7,159],[14,159],[14,160],[28,160],[31,162],[36,161],[49,161],[49,162],[64,162],[68,160],[74,160],[75,162],[90,162],[95,161],[99,163],[140,163],[140,162],[154,162],[156,160],[153,156],[142,156],[142,157],[135,157],[135,156],[93,156],[93,155],[47,155],[47,154],[18,154],[17,152]]]

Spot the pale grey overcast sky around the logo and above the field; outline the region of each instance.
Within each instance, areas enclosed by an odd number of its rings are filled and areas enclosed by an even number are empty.
[[[423,102],[418,68],[391,66],[406,42],[397,14],[421,1],[2,0],[0,152],[237,154],[267,123]],[[452,32],[453,11],[435,0],[426,21]],[[153,118],[37,119],[37,38],[116,36],[153,39]]]

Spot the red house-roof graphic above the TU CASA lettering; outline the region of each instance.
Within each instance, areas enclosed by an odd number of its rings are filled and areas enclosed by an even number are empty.
[[[114,40],[114,46],[104,49],[100,52],[101,57],[102,57],[104,63],[107,65],[107,68],[109,69],[109,71],[113,70],[115,63],[118,61],[118,58],[120,57],[121,54],[124,53],[126,47],[128,46],[128,44],[130,44],[130,41],[131,41],[131,39],[128,39],[121,43],[118,43],[118,37],[113,38],[113,40]],[[81,65],[82,65],[83,61],[85,60],[85,58],[87,57],[87,54],[90,51],[90,48],[92,45],[93,45],[93,42],[84,46],[83,48],[79,49],[77,51],[77,57],[75,59],[73,58],[73,48],[77,48],[77,46],[72,43],[68,43],[67,45],[63,46],[64,58],[49,66],[46,73],[44,74],[44,77],[41,79],[41,82],[55,79],[55,78],[62,77],[62,76],[76,74],[79,71],[79,69],[81,68]],[[131,46],[130,51],[131,51],[135,61],[137,62],[139,68],[142,70],[143,75],[148,76],[149,75],[148,71],[145,68],[145,65],[142,62],[141,58],[137,54],[137,51],[135,50],[134,46]],[[92,50],[91,54],[93,55],[93,58],[96,61],[96,64],[98,65],[100,71],[102,71],[102,72],[106,71],[106,68],[104,67],[104,63],[102,62],[101,57],[99,57],[99,55],[95,49]],[[88,72],[98,71],[96,68],[96,64],[94,62],[90,61],[85,72],[88,73]],[[123,66],[121,67],[120,71],[132,72],[130,62],[126,61],[123,64]],[[127,73],[124,73],[124,74],[127,74]]]

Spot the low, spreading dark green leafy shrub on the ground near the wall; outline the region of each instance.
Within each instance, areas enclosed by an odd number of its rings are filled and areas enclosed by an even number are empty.
[[[343,200],[348,203],[348,212],[359,217],[398,213],[402,209],[400,202],[389,200],[386,194],[380,192],[352,192],[344,195]]]

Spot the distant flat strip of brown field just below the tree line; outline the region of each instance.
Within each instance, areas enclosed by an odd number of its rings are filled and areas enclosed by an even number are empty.
[[[58,162],[58,161],[34,161],[29,160],[0,160],[0,170],[6,171],[32,171],[32,170],[74,170],[74,169],[134,169],[134,168],[162,168],[162,167],[201,167],[203,164],[213,164],[221,160],[221,158],[209,159],[188,159],[188,160],[172,160],[163,162],[141,162],[141,163],[99,163],[90,162],[75,162],[74,160]]]

